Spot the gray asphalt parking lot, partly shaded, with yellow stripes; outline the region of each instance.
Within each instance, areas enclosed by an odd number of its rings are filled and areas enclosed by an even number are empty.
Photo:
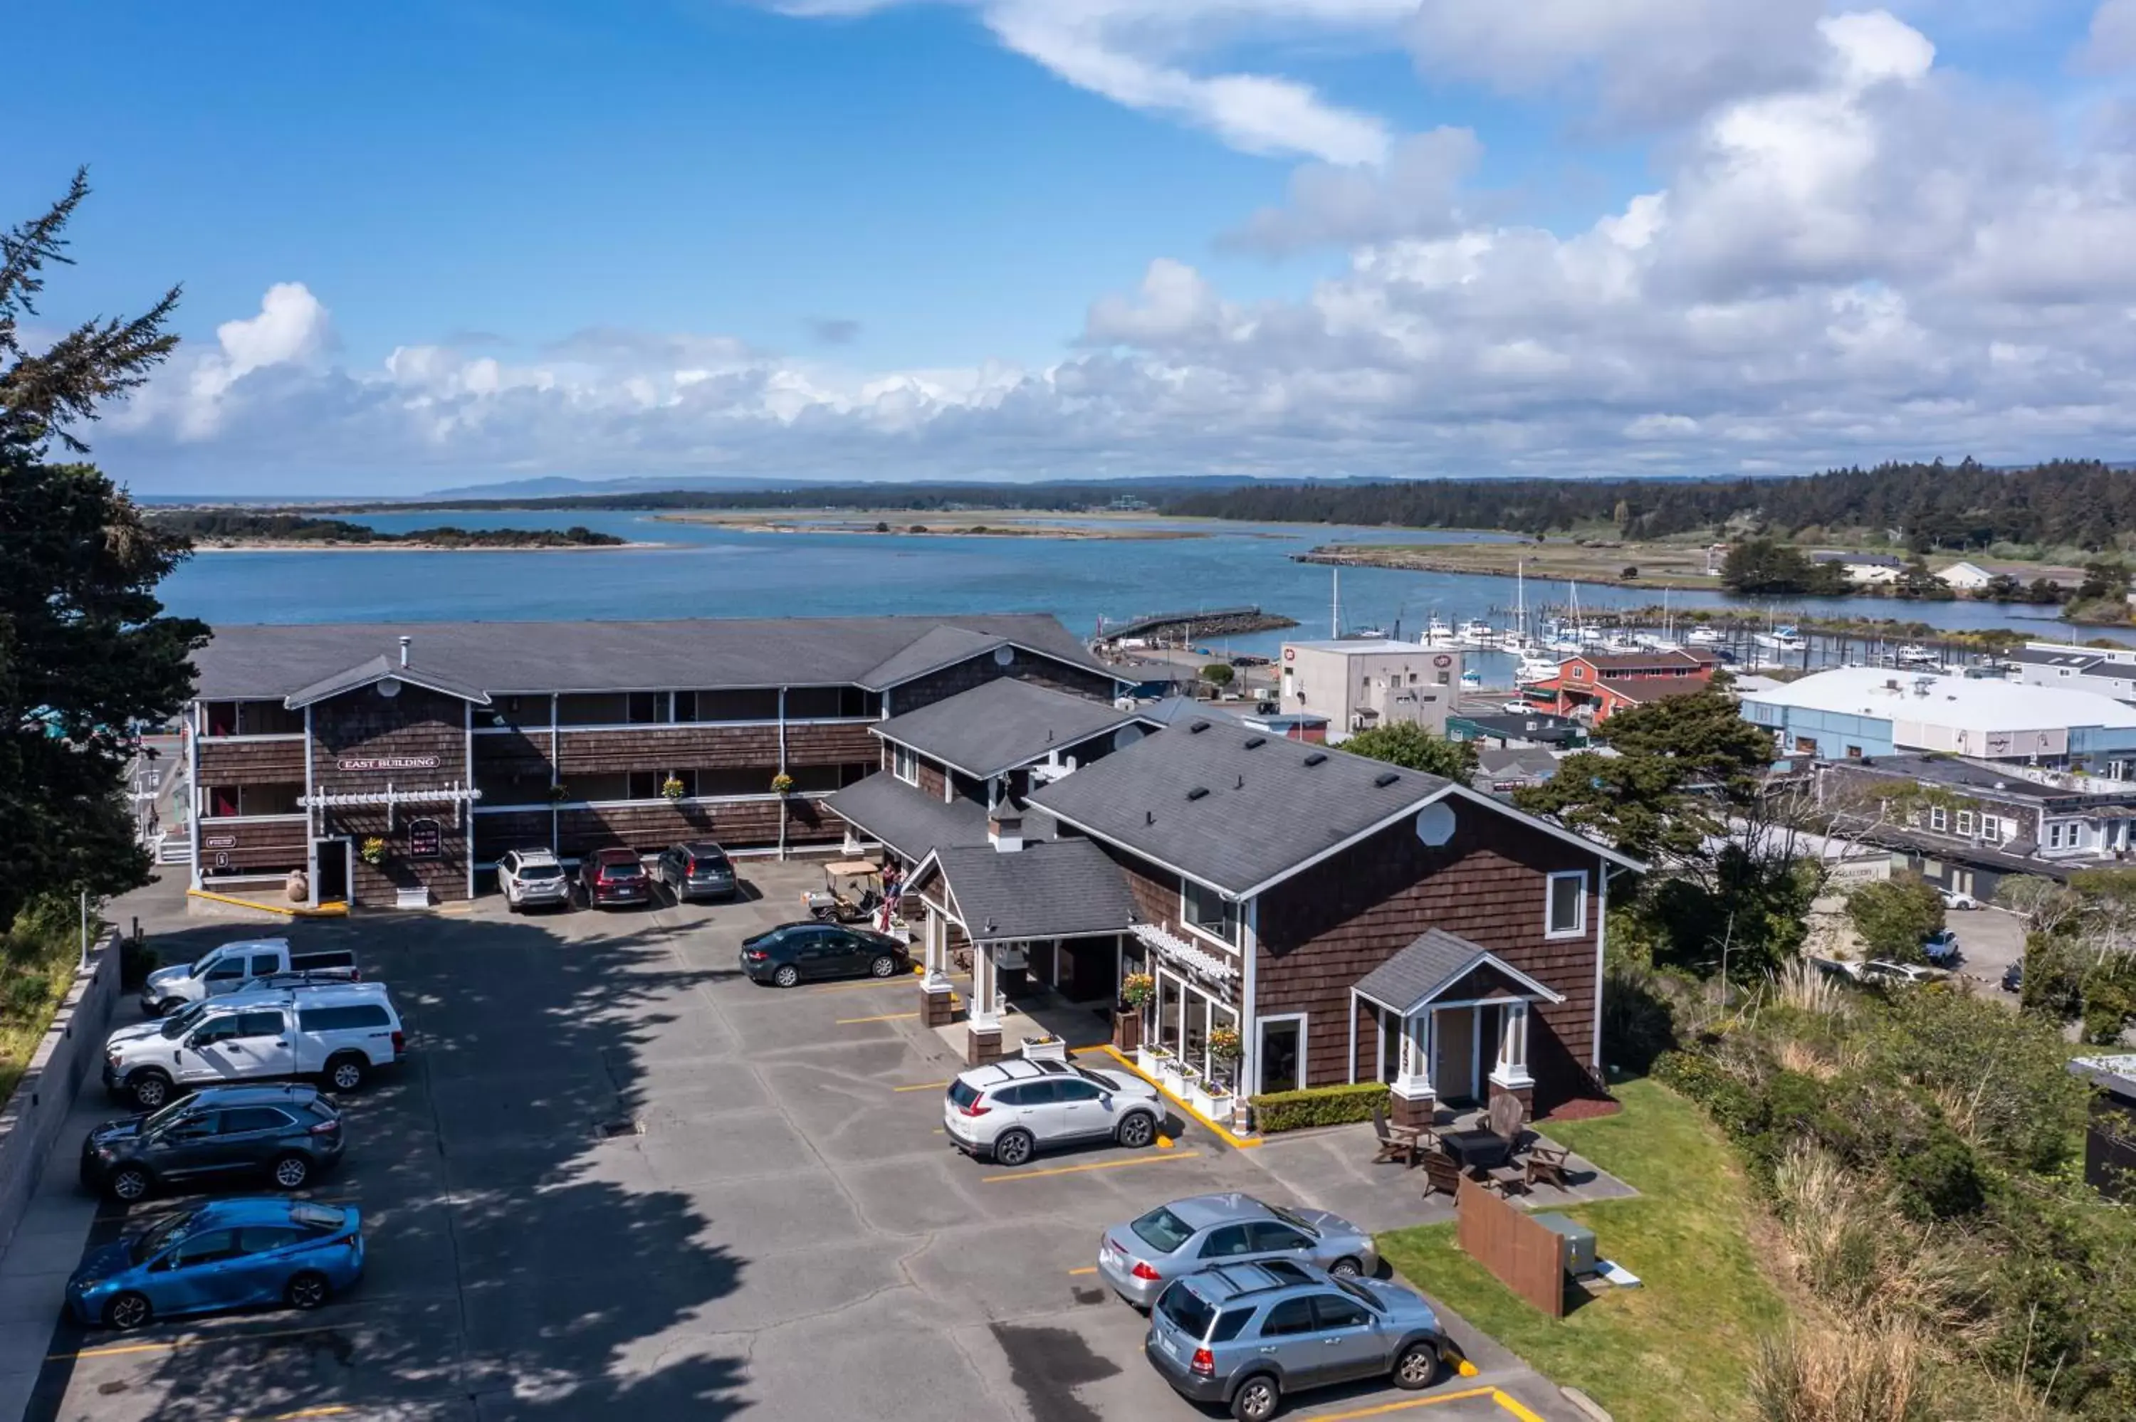
[[[1183,1194],[1299,1191],[1177,1119],[1141,1153],[957,1155],[940,1112],[961,1063],[921,1029],[912,982],[748,982],[741,937],[792,918],[818,871],[743,875],[735,905],[519,918],[489,897],[293,925],[357,942],[410,1029],[408,1061],[346,1102],[348,1159],[312,1191],[361,1206],[361,1287],[141,1334],[58,1324],[28,1416],[1207,1416],[1141,1358],[1143,1320],[1094,1277],[1098,1230]],[[263,931],[171,927],[156,942],[177,954]],[[175,1204],[100,1206],[90,1241]],[[1339,1388],[1288,1416],[1576,1416],[1457,1339],[1476,1377]]]

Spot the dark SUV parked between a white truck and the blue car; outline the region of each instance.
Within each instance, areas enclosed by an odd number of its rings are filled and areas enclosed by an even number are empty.
[[[314,1087],[209,1087],[81,1142],[81,1183],[113,1200],[211,1179],[301,1189],[342,1159],[342,1112]]]

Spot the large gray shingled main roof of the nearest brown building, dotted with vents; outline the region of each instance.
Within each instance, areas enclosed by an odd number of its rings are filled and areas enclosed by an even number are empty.
[[[1175,724],[1030,799],[1072,826],[1241,895],[1448,784],[1207,717]]]

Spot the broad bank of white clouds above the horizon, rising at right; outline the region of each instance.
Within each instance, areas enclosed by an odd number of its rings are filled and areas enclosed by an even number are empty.
[[[1220,19],[1213,0],[1179,9],[1168,28],[1104,34],[1164,56]],[[1658,154],[1651,190],[1585,228],[1463,211],[1459,130],[1397,143],[1382,171],[1307,164],[1245,233],[1358,243],[1335,275],[1247,301],[1158,258],[1134,290],[1098,295],[1074,354],[1047,369],[854,369],[615,329],[337,367],[325,310],[284,286],[182,352],[100,455],[130,474],[124,461],[190,446],[216,470],[406,470],[417,489],[530,468],[1410,476],[2136,457],[2123,128],[1972,85],[1884,13],[1807,34],[1792,79],[1713,102]]]

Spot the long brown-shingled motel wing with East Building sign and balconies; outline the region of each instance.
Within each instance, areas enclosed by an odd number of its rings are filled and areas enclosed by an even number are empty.
[[[835,846],[874,726],[998,679],[1111,707],[1053,617],[226,626],[186,711],[194,888],[466,899],[504,850]]]

